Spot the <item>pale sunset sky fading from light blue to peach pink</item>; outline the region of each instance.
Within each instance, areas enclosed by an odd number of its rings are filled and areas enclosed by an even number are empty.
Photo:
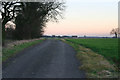
[[[65,0],[64,19],[49,22],[44,35],[110,36],[118,27],[119,0]]]

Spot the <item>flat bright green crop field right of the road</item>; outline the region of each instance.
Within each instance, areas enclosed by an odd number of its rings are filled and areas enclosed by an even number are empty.
[[[118,39],[66,39],[74,44],[90,48],[103,55],[111,63],[118,63]]]

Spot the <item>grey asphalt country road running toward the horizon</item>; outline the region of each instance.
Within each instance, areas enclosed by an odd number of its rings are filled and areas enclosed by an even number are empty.
[[[76,52],[59,40],[45,40],[25,49],[3,68],[3,78],[85,78]]]

